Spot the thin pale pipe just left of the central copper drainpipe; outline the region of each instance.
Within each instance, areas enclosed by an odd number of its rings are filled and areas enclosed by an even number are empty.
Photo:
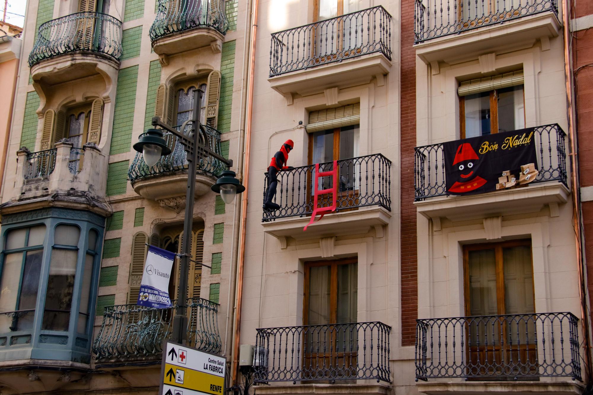
[[[239,144],[237,148],[237,174],[239,177],[243,177],[243,155],[245,154],[245,107],[247,100],[247,77],[249,73],[249,48],[250,40],[249,34],[251,32],[251,4],[252,0],[247,0],[246,15],[245,15],[245,29],[243,33],[243,77],[241,77],[241,110],[239,119]],[[229,275],[229,292],[227,300],[227,324],[224,335],[225,352],[224,355],[232,356],[232,346],[229,342],[229,332],[232,330],[232,320],[234,318],[234,311],[237,307],[237,300],[235,296],[236,281],[237,281],[237,256],[238,256],[238,244],[239,244],[239,224],[241,221],[241,210],[237,208],[237,204],[234,205],[233,221],[232,221],[232,246],[231,246],[231,274]]]

